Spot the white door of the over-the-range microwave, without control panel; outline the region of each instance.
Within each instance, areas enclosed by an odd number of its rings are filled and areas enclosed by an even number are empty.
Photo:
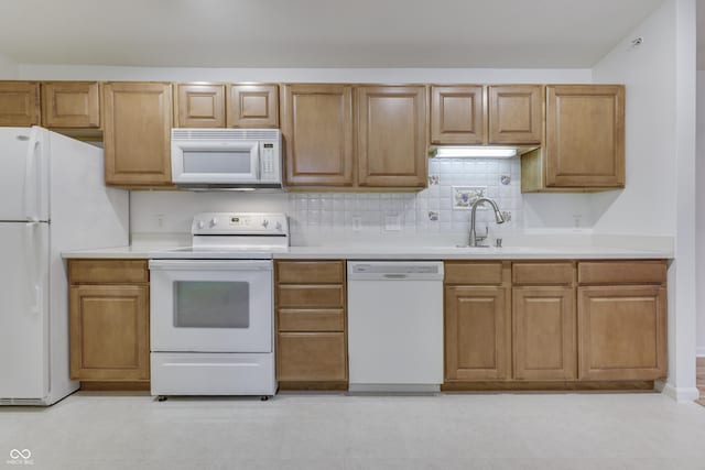
[[[257,183],[260,179],[259,141],[172,141],[174,184]]]

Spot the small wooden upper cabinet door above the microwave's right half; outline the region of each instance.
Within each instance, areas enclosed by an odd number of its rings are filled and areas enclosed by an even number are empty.
[[[228,128],[279,128],[279,86],[228,85]]]

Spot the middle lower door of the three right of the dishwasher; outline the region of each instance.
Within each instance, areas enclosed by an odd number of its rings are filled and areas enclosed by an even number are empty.
[[[574,289],[514,287],[512,303],[514,379],[575,379]]]

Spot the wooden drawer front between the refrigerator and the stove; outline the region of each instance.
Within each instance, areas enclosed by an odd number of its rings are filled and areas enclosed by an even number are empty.
[[[149,282],[147,260],[69,260],[72,284],[133,284]]]

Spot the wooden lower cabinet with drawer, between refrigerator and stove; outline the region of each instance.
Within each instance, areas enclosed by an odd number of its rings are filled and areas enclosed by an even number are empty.
[[[93,390],[150,380],[145,260],[69,260],[70,378]]]

